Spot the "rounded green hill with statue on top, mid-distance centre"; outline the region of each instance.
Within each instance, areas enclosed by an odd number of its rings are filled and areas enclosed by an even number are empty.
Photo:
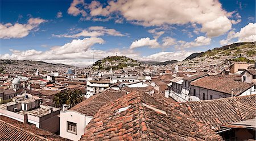
[[[141,63],[138,61],[126,56],[109,56],[96,61],[92,68],[96,70],[110,70],[111,68],[113,70],[117,70],[125,67],[134,67],[140,65]]]

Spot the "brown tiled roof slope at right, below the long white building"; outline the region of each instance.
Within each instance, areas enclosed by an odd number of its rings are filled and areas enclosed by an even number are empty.
[[[171,107],[204,123],[214,131],[219,131],[222,125],[253,119],[256,111],[256,95],[184,102]]]

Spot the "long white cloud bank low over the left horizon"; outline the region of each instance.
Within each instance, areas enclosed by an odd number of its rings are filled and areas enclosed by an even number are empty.
[[[52,47],[47,51],[36,51],[29,49],[27,51],[17,51],[10,49],[10,54],[0,55],[1,59],[15,59],[15,60],[63,60],[63,59],[77,59],[84,58],[85,52],[90,50],[94,44],[103,44],[104,40],[101,38],[85,38],[73,40],[62,46]]]

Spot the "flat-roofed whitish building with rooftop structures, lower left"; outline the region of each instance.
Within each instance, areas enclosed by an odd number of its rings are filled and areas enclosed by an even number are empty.
[[[0,115],[28,123],[49,132],[59,131],[59,111],[55,107],[40,105],[42,99],[23,93],[13,101],[0,105]]]

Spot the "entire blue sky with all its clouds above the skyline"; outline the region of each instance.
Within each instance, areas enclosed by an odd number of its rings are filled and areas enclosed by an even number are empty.
[[[85,67],[102,57],[183,60],[255,41],[255,0],[0,1],[0,59]]]

